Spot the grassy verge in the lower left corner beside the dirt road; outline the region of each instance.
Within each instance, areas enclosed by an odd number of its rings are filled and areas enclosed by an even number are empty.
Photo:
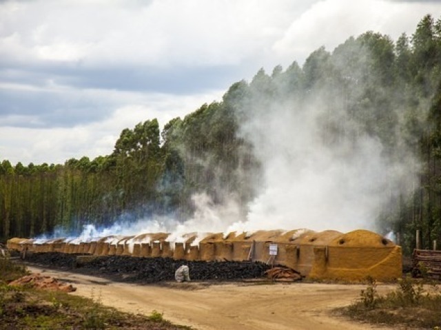
[[[172,324],[163,313],[123,313],[101,305],[101,298],[59,291],[12,287],[8,282],[28,274],[24,267],[0,259],[0,329],[192,329]]]

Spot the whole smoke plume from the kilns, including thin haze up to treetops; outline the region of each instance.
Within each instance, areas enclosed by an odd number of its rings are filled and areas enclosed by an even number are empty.
[[[258,163],[252,174],[239,165],[234,175],[253,187],[252,198],[244,202],[240,192],[225,187],[221,178],[227,174],[216,167],[217,200],[195,192],[194,213],[186,220],[152,216],[86,227],[79,239],[163,231],[177,242],[192,232],[299,228],[386,234],[390,228],[378,217],[409,192],[418,161],[400,130],[404,92],[394,90],[371,59],[362,43],[349,39],[333,54],[317,50],[302,68],[276,67],[271,76],[260,70],[250,83],[230,88],[223,105],[234,110],[236,137]],[[179,149],[185,158],[186,146]],[[207,155],[187,158],[212,166]]]

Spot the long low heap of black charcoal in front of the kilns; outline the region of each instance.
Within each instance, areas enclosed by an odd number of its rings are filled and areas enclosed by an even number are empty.
[[[263,262],[249,261],[190,261],[172,258],[134,258],[131,256],[99,256],[78,265],[79,254],[59,252],[34,253],[27,262],[49,267],[63,267],[82,274],[103,276],[112,280],[152,283],[174,280],[174,272],[181,265],[189,267],[192,280],[244,280],[262,278],[271,268]]]

